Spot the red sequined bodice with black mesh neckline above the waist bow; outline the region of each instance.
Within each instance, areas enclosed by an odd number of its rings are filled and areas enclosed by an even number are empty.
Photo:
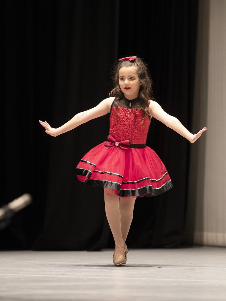
[[[131,140],[131,144],[145,144],[151,120],[146,115],[144,122],[140,127],[143,118],[143,112],[137,108],[137,98],[135,102],[131,101],[131,107],[126,98],[118,104],[118,123],[116,119],[116,107],[114,101],[111,105],[110,128],[109,133],[116,141]],[[136,117],[135,117],[136,109]]]

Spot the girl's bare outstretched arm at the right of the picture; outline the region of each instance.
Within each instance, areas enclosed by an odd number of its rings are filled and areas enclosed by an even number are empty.
[[[207,130],[206,127],[204,127],[197,134],[193,135],[189,132],[189,130],[186,129],[186,127],[183,126],[182,123],[180,123],[180,121],[176,117],[167,114],[162,109],[162,107],[156,101],[153,100],[150,100],[149,112],[153,117],[155,117],[155,119],[158,119],[166,126],[168,126],[175,132],[186,138],[191,143],[195,142],[202,135],[202,132],[205,132]]]

